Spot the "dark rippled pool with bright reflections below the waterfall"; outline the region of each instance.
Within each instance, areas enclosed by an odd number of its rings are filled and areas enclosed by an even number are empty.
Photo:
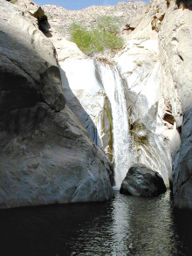
[[[155,198],[0,211],[1,255],[192,255],[191,213]]]

